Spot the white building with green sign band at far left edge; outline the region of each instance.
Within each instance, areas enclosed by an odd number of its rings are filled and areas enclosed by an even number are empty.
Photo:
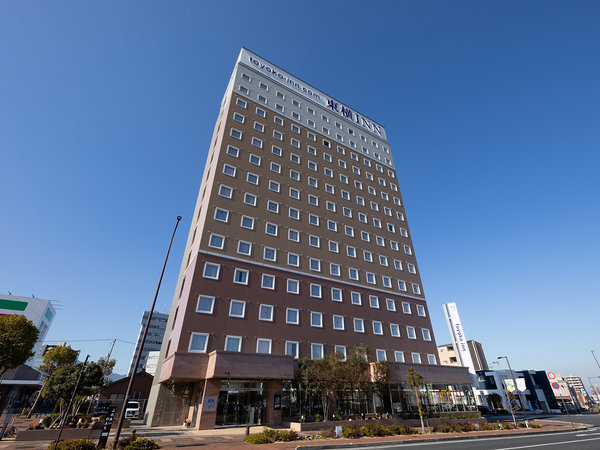
[[[48,329],[54,321],[56,310],[50,300],[43,300],[35,297],[17,297],[16,295],[1,295],[0,296],[0,316],[22,314],[40,330],[38,340],[33,347],[35,355],[28,361],[27,365],[37,368],[42,362],[38,357],[38,353],[42,346],[42,342],[48,334]],[[43,356],[42,356],[43,358]]]

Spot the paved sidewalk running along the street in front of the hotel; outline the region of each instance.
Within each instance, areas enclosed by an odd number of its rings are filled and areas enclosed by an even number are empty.
[[[369,444],[373,443],[394,443],[394,442],[405,442],[405,441],[441,441],[450,439],[481,439],[492,436],[506,436],[506,435],[524,435],[531,433],[558,433],[572,431],[571,424],[568,422],[559,422],[555,420],[536,420],[536,423],[542,425],[542,428],[520,428],[517,430],[505,430],[505,431],[476,431],[476,432],[465,432],[465,433],[436,433],[426,435],[410,435],[410,436],[386,436],[386,437],[372,437],[372,438],[360,438],[360,439],[317,439],[313,441],[294,441],[294,442],[277,442],[275,444],[262,444],[262,445],[250,445],[246,444],[244,435],[246,429],[241,428],[220,428],[215,430],[187,430],[181,427],[159,427],[150,428],[146,426],[134,426],[123,432],[123,437],[129,436],[132,430],[136,430],[138,437],[147,437],[154,439],[156,443],[163,449],[182,449],[182,448],[211,448],[214,450],[227,450],[235,447],[240,447],[248,450],[292,450],[296,448],[308,448],[312,447],[314,450],[317,448],[335,448],[338,446],[357,446],[357,444]],[[575,424],[576,430],[584,430],[587,426],[583,424]],[[251,433],[259,433],[263,427],[257,426],[252,427]],[[109,443],[112,443],[113,435],[109,438]],[[14,440],[2,440],[0,441],[0,449],[47,449],[52,441],[36,441],[36,442],[15,442]]]

